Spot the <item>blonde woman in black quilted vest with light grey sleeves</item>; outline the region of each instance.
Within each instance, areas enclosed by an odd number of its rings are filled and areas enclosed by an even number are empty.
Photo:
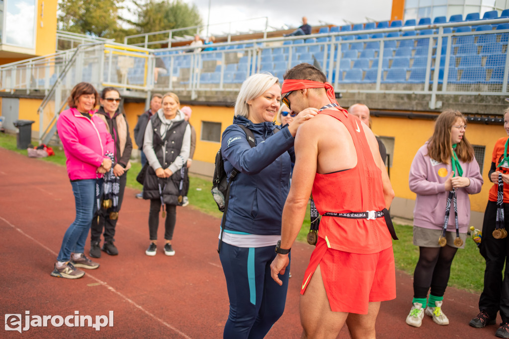
[[[189,158],[191,144],[191,129],[179,107],[179,97],[175,93],[166,93],[162,98],[162,108],[150,118],[145,130],[143,152],[149,167],[143,183],[143,198],[150,199],[150,245],[145,251],[148,256],[157,253],[161,207],[163,218],[166,216],[164,254],[175,255],[172,248],[173,231],[177,205],[182,205],[183,166]]]

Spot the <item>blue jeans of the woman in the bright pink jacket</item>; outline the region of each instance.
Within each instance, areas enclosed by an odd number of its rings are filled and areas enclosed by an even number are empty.
[[[102,179],[99,179],[99,197],[102,195]],[[76,203],[76,219],[64,234],[58,261],[69,261],[71,253],[84,253],[92,218],[97,211],[96,179],[71,181]]]

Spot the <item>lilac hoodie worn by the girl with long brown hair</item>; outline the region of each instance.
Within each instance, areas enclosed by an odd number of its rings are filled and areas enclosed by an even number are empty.
[[[449,191],[445,191],[444,182],[450,175],[451,164],[439,163],[431,159],[428,154],[428,142],[419,148],[412,166],[410,166],[410,190],[417,194],[414,208],[414,226],[441,229],[445,218],[445,205]],[[467,233],[470,222],[469,194],[480,192],[483,186],[483,176],[479,171],[479,164],[473,159],[470,163],[460,160],[463,176],[470,179],[470,185],[457,190],[458,223],[460,233]],[[443,170],[443,169],[445,170]],[[439,170],[440,171],[439,175]],[[451,202],[452,204],[452,202]],[[451,205],[447,231],[456,232],[454,220],[454,205]]]

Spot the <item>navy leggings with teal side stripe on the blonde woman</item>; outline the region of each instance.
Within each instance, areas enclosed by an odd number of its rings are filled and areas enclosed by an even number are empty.
[[[219,259],[230,298],[223,338],[263,338],[283,314],[290,265],[285,274],[279,275],[283,285],[277,285],[270,276],[270,264],[276,256],[274,248],[222,243]]]

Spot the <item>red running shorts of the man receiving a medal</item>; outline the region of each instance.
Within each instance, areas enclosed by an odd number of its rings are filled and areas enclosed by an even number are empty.
[[[396,297],[392,246],[374,254],[357,254],[330,249],[325,239],[318,237],[300,294],[304,294],[318,265],[333,312],[367,314],[368,302]]]

